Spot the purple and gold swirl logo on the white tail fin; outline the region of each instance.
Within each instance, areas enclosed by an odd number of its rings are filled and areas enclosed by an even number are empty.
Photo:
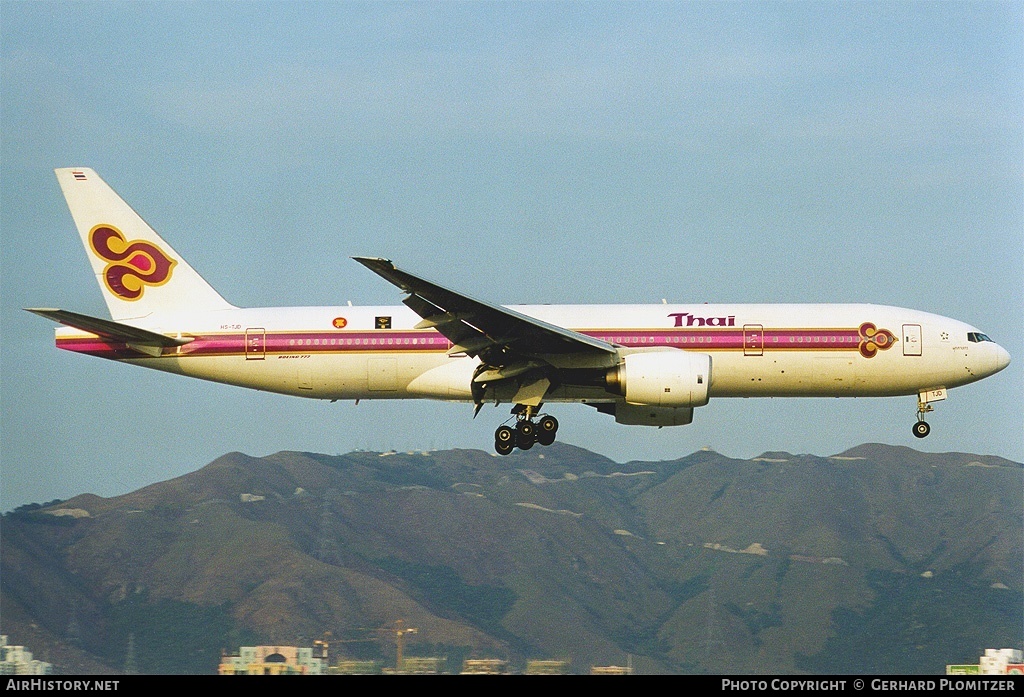
[[[144,239],[128,242],[113,225],[96,225],[89,232],[93,254],[106,262],[103,282],[111,293],[123,300],[142,297],[147,286],[163,286],[171,279],[178,262]]]

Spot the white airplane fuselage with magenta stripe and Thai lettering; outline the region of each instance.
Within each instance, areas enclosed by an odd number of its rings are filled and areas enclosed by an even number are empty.
[[[893,396],[981,380],[1009,362],[978,330],[879,305],[529,305],[529,317],[620,347],[623,355],[711,356],[710,397]],[[160,355],[57,330],[68,350],[169,373],[317,399],[472,399],[478,360],[404,306],[225,309],[126,323],[191,338]],[[561,361],[559,364],[558,361]],[[582,368],[553,356],[557,367]],[[509,401],[510,394],[488,399]],[[600,385],[562,384],[549,402],[621,399]]]

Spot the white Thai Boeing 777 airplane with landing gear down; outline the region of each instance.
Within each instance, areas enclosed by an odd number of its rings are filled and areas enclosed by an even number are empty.
[[[111,318],[26,308],[56,346],[191,378],[329,399],[511,404],[495,450],[550,445],[545,404],[683,426],[720,397],[915,395],[912,433],[954,387],[1010,363],[970,324],[867,304],[520,305],[353,257],[404,306],[240,308],[88,168],[55,170]]]

